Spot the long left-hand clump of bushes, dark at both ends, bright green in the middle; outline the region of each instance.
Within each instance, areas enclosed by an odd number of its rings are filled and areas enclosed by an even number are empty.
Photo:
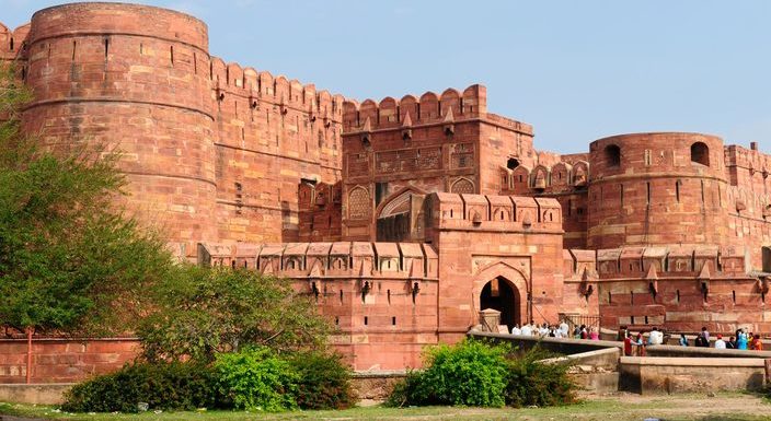
[[[214,364],[164,362],[125,365],[76,385],[65,397],[70,412],[137,412],[196,408],[343,409],[356,402],[350,371],[322,351],[278,356],[268,348],[219,354]]]

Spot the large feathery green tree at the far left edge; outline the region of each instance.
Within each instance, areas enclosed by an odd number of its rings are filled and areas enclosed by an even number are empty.
[[[0,324],[27,331],[127,331],[171,256],[115,204],[117,155],[38,145],[20,129],[28,92],[0,69]]]

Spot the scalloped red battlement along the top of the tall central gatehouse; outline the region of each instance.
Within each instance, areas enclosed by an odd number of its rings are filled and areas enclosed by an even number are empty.
[[[343,129],[346,132],[372,131],[379,129],[410,128],[426,124],[454,122],[456,120],[480,118],[487,114],[487,89],[474,84],[463,92],[445,90],[440,95],[426,92],[421,97],[405,95],[396,101],[387,96],[380,102],[365,100],[361,103],[346,101],[343,104]],[[529,125],[495,116],[500,124],[520,130],[532,131]]]

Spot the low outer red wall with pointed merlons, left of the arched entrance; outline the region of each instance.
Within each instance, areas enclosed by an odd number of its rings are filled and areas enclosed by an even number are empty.
[[[334,324],[331,343],[356,370],[421,365],[437,343],[438,257],[411,243],[202,244],[208,266],[286,277]]]

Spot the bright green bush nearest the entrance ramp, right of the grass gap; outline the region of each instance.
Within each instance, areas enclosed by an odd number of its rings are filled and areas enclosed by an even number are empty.
[[[464,340],[428,350],[423,372],[412,372],[391,405],[503,407],[508,347]]]

